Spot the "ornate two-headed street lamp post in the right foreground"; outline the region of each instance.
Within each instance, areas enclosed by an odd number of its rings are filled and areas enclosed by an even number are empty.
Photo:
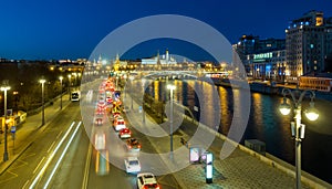
[[[300,97],[297,98],[295,94],[293,93],[300,93],[298,90],[297,91],[291,91],[289,88],[283,88],[282,90],[282,95],[283,95],[283,103],[280,105],[279,109],[282,115],[288,115],[291,111],[291,106],[287,104],[287,98],[286,95],[290,94],[294,107],[294,120],[291,122],[291,132],[292,136],[294,137],[295,140],[295,179],[297,179],[297,189],[301,188],[301,141],[304,138],[304,132],[305,132],[305,126],[301,124],[301,103],[303,97],[305,96],[307,92],[310,93],[310,107],[304,111],[304,114],[309,120],[315,120],[319,117],[318,111],[314,108],[314,103],[313,99],[315,97],[315,94],[311,90],[305,90],[300,94]]]

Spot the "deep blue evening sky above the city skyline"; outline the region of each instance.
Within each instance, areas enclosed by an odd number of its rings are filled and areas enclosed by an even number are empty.
[[[0,8],[0,57],[28,60],[89,57],[117,27],[154,14],[198,19],[231,43],[242,34],[284,38],[288,22],[310,10],[332,17],[331,0],[1,0]],[[139,56],[173,52],[154,45]]]

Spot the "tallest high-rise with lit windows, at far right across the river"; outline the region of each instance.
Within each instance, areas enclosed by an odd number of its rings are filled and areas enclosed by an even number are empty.
[[[331,50],[331,45],[326,44],[326,38],[331,38],[328,25],[320,11],[307,12],[290,22],[286,30],[286,56],[290,69],[288,82],[295,83],[301,75],[315,75],[325,71],[324,61]],[[330,34],[326,34],[328,31]]]

